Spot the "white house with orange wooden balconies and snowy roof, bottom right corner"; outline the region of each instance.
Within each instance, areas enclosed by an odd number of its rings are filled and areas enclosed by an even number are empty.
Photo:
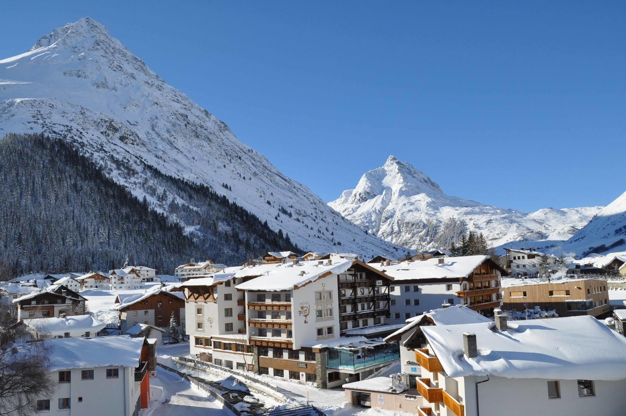
[[[626,338],[592,316],[509,323],[498,312],[495,323],[421,327],[418,415],[623,413]]]

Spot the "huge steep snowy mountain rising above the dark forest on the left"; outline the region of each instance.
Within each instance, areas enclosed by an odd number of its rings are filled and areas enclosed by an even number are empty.
[[[0,137],[11,132],[68,140],[111,179],[191,233],[195,224],[170,207],[186,202],[155,187],[146,165],[210,185],[302,248],[364,257],[403,252],[366,234],[286,177],[90,18],[55,29],[28,52],[0,60]]]

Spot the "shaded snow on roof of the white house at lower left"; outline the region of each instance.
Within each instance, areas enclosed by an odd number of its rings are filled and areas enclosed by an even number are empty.
[[[137,367],[143,338],[97,336],[95,338],[52,338],[44,341],[51,347],[51,371],[68,368]]]

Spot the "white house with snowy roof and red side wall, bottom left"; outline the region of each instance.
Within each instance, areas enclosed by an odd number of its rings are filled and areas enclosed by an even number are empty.
[[[49,346],[54,385],[52,393],[32,403],[35,412],[136,416],[148,408],[148,371],[156,353],[150,341],[99,336],[43,342]]]

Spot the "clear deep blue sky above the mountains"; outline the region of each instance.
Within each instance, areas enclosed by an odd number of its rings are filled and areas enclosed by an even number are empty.
[[[521,211],[626,191],[626,3],[10,2],[0,56],[84,16],[324,200],[395,155]]]

